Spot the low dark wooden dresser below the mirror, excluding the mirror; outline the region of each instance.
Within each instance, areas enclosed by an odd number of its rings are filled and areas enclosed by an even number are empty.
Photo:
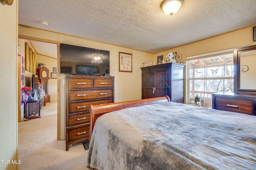
[[[256,96],[239,94],[212,94],[212,108],[256,115]]]

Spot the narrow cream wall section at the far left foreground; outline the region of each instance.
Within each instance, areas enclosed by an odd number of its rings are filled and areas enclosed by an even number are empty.
[[[0,3],[0,169],[16,170],[18,163],[18,0]],[[4,163],[4,161],[10,161]]]

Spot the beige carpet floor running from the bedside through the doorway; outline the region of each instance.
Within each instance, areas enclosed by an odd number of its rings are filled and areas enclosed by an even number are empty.
[[[65,141],[56,140],[57,105],[54,107],[53,103],[43,107],[41,118],[18,123],[18,160],[21,161],[18,169],[88,170],[85,167],[88,150],[82,144],[66,151]]]

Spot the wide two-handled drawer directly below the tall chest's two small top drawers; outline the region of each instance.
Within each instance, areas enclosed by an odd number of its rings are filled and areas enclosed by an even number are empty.
[[[69,101],[76,100],[90,100],[90,99],[101,99],[101,98],[112,98],[112,89],[102,90],[69,90],[68,91]]]

